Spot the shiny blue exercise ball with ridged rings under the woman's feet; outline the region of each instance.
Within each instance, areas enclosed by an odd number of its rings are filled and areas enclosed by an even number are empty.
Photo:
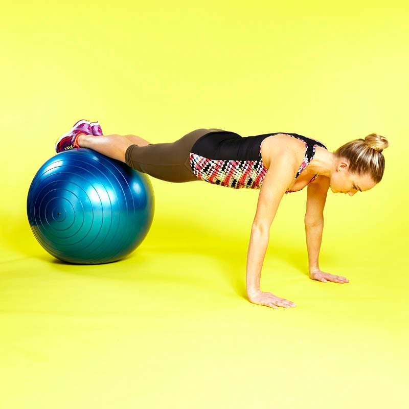
[[[141,244],[154,202],[146,174],[78,148],[41,166],[30,185],[27,215],[35,238],[52,256],[101,264],[124,258]]]

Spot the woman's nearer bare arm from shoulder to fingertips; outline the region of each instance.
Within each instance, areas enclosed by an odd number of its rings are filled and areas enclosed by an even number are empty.
[[[252,303],[277,308],[294,306],[290,301],[276,297],[260,289],[261,269],[267,251],[269,231],[276,216],[280,201],[297,173],[296,156],[290,150],[271,161],[261,186],[257,202],[256,215],[247,252],[246,290]]]

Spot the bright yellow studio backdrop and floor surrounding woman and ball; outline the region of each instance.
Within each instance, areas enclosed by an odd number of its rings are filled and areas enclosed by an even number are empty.
[[[9,2],[0,35],[0,406],[407,407],[409,6],[356,2]],[[308,278],[307,190],[284,196],[262,290],[246,252],[258,191],[150,178],[151,230],[131,257],[75,266],[35,240],[27,193],[80,119],[173,142],[196,128],[377,132],[371,191],[328,193]]]

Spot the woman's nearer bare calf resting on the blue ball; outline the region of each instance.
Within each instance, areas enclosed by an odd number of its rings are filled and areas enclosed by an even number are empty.
[[[128,135],[133,136],[135,135]],[[139,137],[136,137],[139,138]],[[142,140],[142,138],[140,138]],[[145,141],[145,140],[142,140]],[[138,142],[138,140],[135,140]],[[145,141],[147,142],[147,141]],[[105,156],[109,156],[112,159],[117,159],[121,162],[125,162],[125,152],[130,145],[135,143],[128,138],[124,138],[122,135],[104,135],[97,136],[94,135],[79,135],[77,143],[81,148],[93,149]]]

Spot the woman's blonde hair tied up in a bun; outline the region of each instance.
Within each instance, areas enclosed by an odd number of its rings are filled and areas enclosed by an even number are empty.
[[[340,146],[334,153],[337,158],[346,158],[349,171],[359,175],[369,173],[375,183],[379,183],[385,170],[383,149],[388,148],[389,142],[382,135],[371,133],[365,139],[359,138]]]

